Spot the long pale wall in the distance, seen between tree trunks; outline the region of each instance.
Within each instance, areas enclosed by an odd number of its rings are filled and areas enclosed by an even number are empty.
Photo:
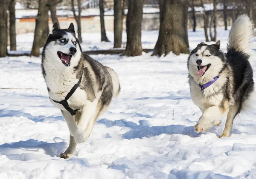
[[[37,12],[37,10],[35,10]],[[35,30],[35,14],[27,18],[20,18],[16,20],[16,32],[17,34],[29,33],[34,32]],[[32,14],[33,14],[32,13]],[[211,18],[211,11],[207,11],[207,17]],[[232,25],[232,11],[228,11],[228,18],[227,22],[228,25]],[[68,17],[67,17],[68,16]],[[217,11],[217,25],[224,26],[224,18],[223,18],[223,11]],[[76,26],[76,21],[72,17],[72,14],[66,15],[66,17],[58,17],[60,27],[67,27],[70,23],[74,23]],[[202,28],[204,26],[204,18],[201,12],[196,12],[196,20],[197,20],[197,28]],[[105,15],[105,28],[106,31],[113,31],[113,15]],[[100,19],[98,15],[87,15],[82,16],[81,18],[81,26],[82,26],[82,33],[86,32],[100,32]],[[123,20],[123,29],[126,29],[126,17]],[[189,21],[188,21],[188,28],[192,28],[192,13],[189,12]],[[49,18],[49,28],[51,29],[52,22],[51,18]],[[143,14],[143,21],[142,21],[142,30],[149,31],[149,30],[159,30],[160,20],[159,20],[159,13],[158,12],[151,12]]]

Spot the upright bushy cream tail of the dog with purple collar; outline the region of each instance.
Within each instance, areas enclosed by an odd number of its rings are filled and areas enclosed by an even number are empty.
[[[250,18],[243,14],[233,23],[228,36],[227,51],[234,49],[246,53],[249,49],[250,37],[253,35],[253,24]]]

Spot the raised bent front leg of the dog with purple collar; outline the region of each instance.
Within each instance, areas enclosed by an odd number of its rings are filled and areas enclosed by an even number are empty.
[[[199,118],[198,123],[195,125],[195,132],[204,132],[206,129],[214,125],[219,125],[221,123],[220,119],[223,113],[224,109],[219,106],[207,108]]]

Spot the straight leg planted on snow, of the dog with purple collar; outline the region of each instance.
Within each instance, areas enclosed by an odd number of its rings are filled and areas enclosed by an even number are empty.
[[[241,106],[239,104],[230,106],[230,109],[227,114],[227,121],[225,124],[224,131],[221,134],[221,136],[219,136],[219,138],[229,137],[231,135],[231,129],[233,126],[234,119],[236,115],[239,113],[240,109],[241,109]]]

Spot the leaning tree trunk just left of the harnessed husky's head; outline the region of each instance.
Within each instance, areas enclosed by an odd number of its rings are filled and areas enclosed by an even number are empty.
[[[47,35],[49,34],[49,27],[48,27],[49,8],[46,6],[47,1],[48,0],[39,0],[38,15],[35,20],[34,41],[33,41],[32,50],[31,50],[31,55],[35,57],[39,57],[40,47],[42,47],[46,42],[46,39],[47,39],[47,37],[45,37],[45,34],[47,33],[46,31],[48,31]],[[48,28],[48,30],[46,28]]]

